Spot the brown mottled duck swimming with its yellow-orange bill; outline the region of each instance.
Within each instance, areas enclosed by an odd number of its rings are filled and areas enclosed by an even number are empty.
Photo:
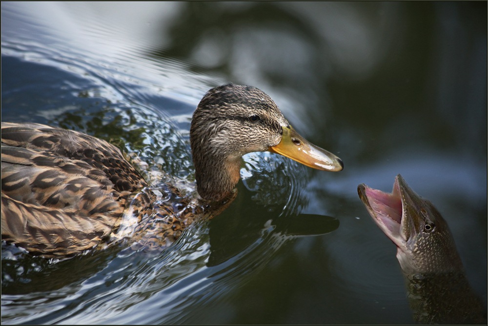
[[[130,242],[163,248],[237,196],[242,156],[269,151],[324,171],[336,155],[305,140],[262,90],[227,83],[193,113],[196,193],[154,186],[134,160],[90,135],[39,123],[1,122],[1,238],[44,258],[69,258]]]

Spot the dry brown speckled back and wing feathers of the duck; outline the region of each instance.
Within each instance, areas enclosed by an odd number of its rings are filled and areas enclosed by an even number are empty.
[[[115,146],[41,124],[1,124],[2,240],[68,256],[110,236],[146,185]]]

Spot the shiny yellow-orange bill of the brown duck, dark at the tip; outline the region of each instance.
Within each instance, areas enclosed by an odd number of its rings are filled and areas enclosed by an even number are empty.
[[[291,126],[283,127],[281,142],[270,146],[268,150],[317,170],[341,171],[344,168],[344,163],[340,158],[309,143]]]

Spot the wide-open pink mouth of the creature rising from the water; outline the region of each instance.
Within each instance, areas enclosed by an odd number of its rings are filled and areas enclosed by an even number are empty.
[[[403,222],[402,189],[400,183],[405,183],[398,175],[393,184],[391,193],[368,187],[366,184],[358,186],[359,197],[373,218],[373,221],[383,230],[390,240],[398,247],[402,246],[404,239],[401,232]]]

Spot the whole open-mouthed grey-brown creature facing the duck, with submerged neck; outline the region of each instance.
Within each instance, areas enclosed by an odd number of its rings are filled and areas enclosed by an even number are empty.
[[[419,324],[487,324],[487,310],[469,285],[449,226],[399,174],[386,193],[358,185],[373,221],[397,247],[413,319]]]

